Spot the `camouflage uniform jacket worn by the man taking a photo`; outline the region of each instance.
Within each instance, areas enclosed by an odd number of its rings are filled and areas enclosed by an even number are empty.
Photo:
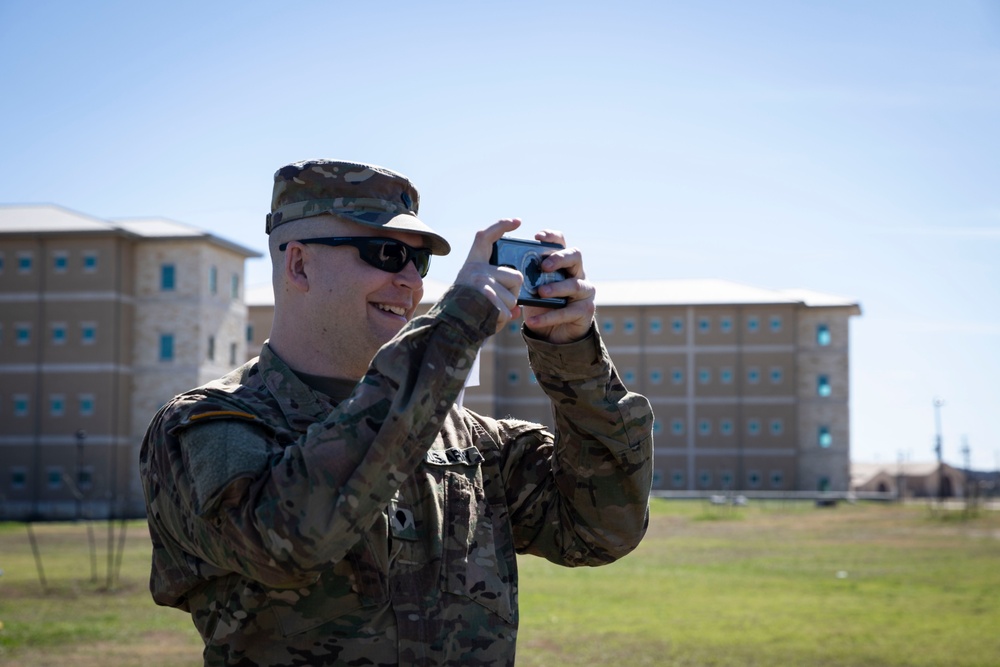
[[[349,398],[267,344],[175,397],[141,471],[157,603],[192,614],[209,665],[504,665],[515,553],[600,565],[646,526],[652,414],[596,330],[528,340],[557,438],[454,405],[496,309],[453,287]]]

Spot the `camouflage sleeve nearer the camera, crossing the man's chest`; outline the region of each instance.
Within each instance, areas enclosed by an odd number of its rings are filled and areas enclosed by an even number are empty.
[[[419,465],[496,318],[485,297],[453,287],[376,354],[347,400],[282,449],[250,415],[171,428],[161,412],[143,446],[157,529],[202,561],[202,575],[239,572],[275,587],[315,579]],[[224,465],[206,465],[224,452]]]

